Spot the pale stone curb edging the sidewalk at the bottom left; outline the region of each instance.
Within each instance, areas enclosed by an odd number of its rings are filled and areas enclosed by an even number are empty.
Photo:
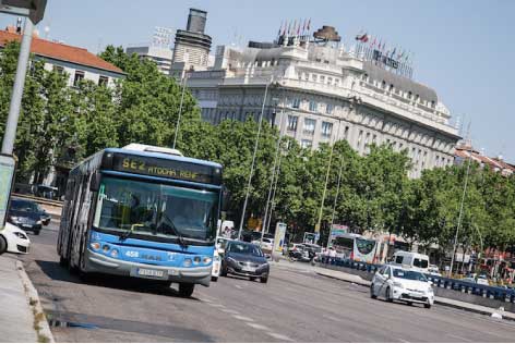
[[[27,296],[28,305],[32,307],[34,314],[34,327],[37,328],[37,336],[38,342],[44,342],[45,339],[49,343],[56,343],[53,340],[53,334],[50,331],[50,327],[47,321],[47,317],[45,316],[45,311],[43,310],[41,302],[39,300],[39,295],[34,287],[31,279],[28,278],[27,273],[25,272],[25,268],[20,260],[16,260],[16,270],[22,279],[23,286],[25,287],[25,294]],[[36,319],[36,315],[39,316],[39,319]]]

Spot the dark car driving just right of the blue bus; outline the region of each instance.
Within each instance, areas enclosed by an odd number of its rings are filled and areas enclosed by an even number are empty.
[[[268,281],[270,265],[260,247],[245,242],[228,242],[221,261],[221,275],[247,277]]]

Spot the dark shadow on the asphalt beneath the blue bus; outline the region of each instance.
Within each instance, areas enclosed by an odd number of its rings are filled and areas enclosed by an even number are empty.
[[[51,260],[35,260],[41,271],[53,281],[63,281],[69,283],[76,283],[83,285],[109,287],[117,290],[124,290],[129,292],[146,293],[155,295],[166,295],[172,297],[181,297],[179,293],[170,287],[170,282],[144,280],[120,275],[109,275],[101,273],[88,273],[87,275],[75,275],[70,273],[67,268],[63,268],[57,261]],[[195,297],[189,299],[199,300]]]

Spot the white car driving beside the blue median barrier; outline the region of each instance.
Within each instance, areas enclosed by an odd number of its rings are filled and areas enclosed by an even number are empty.
[[[431,308],[434,304],[432,283],[426,275],[412,269],[386,265],[375,272],[370,285],[370,297],[384,297],[387,302],[403,300],[411,305],[423,304]]]

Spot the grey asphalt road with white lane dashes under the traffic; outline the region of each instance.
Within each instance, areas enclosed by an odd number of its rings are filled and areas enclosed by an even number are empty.
[[[287,261],[272,266],[267,284],[220,278],[189,299],[117,277],[85,283],[59,266],[55,222],[31,239],[25,269],[58,342],[513,342],[515,335],[512,321],[373,300],[363,286]]]

